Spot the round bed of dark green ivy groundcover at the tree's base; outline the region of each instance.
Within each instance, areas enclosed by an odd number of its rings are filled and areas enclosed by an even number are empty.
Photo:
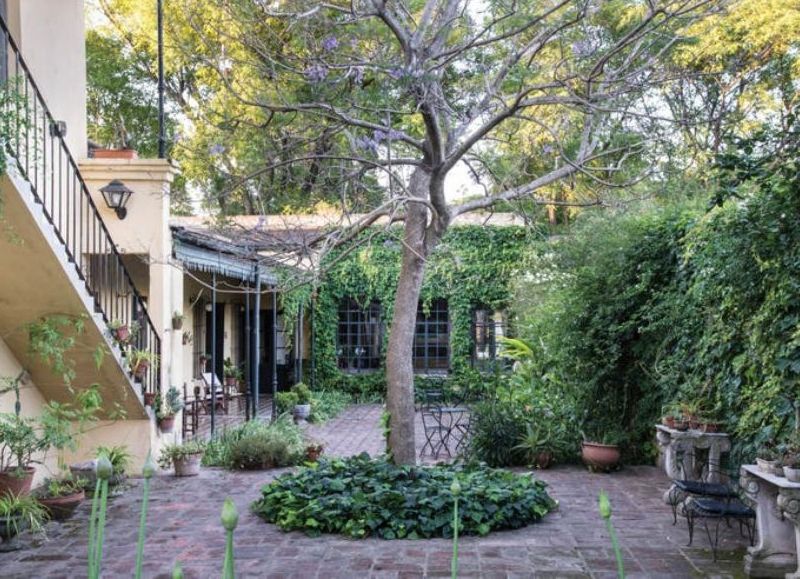
[[[323,459],[262,489],[253,511],[284,531],[354,538],[450,537],[457,476],[459,533],[486,535],[540,520],[557,503],[545,483],[487,466],[395,466],[367,454]]]

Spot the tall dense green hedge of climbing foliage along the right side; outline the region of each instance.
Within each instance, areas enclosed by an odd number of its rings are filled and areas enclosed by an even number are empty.
[[[800,377],[800,187],[766,179],[720,207],[585,219],[542,245],[518,288],[523,334],[580,401],[655,453],[662,405],[700,401],[741,460],[788,435]]]

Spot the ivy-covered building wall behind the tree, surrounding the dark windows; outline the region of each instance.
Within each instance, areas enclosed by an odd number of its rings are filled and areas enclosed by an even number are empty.
[[[325,276],[314,298],[314,358],[317,387],[344,389],[361,397],[383,394],[384,363],[394,292],[400,272],[400,229],[368,231],[353,247],[326,258]],[[446,299],[450,318],[451,380],[476,387],[481,380],[471,369],[473,310],[509,309],[515,274],[521,268],[533,233],[518,226],[455,226],[428,260],[421,301],[428,307]],[[361,305],[376,301],[386,323],[381,368],[369,373],[340,371],[336,359],[339,304],[346,298]],[[296,311],[310,292],[286,296],[284,307]]]

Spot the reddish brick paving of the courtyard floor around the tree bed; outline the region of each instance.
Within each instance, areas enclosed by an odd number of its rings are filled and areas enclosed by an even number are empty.
[[[377,452],[382,441],[376,406],[352,407],[313,435],[331,454]],[[259,488],[277,472],[229,473],[204,469],[193,479],[154,479],[145,575],[168,577],[180,560],[187,577],[219,577],[224,548],[219,523],[222,500],[239,507],[236,561],[239,577],[445,577],[450,542],[355,541],[336,536],[312,539],[282,533],[249,512]],[[591,474],[577,466],[543,471],[560,510],[540,524],[461,541],[463,577],[614,577],[610,542],[597,515],[597,493],[606,490],[630,577],[730,577],[741,574],[745,542],[726,530],[720,561],[711,562],[704,533],[687,548],[685,524],[671,525],[661,502],[663,473],[652,467],[626,468],[612,475]],[[106,577],[131,576],[135,557],[140,481],[113,500],[108,512]],[[45,541],[25,538],[27,548],[0,553],[0,577],[82,577],[86,564],[88,504],[72,520],[48,526]]]

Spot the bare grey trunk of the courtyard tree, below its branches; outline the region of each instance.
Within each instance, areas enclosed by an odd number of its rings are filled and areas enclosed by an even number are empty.
[[[417,169],[411,176],[409,191],[427,199],[430,176]],[[425,230],[428,210],[422,203],[406,204],[403,261],[397,281],[394,314],[386,353],[386,407],[389,412],[389,451],[396,464],[415,464],[414,435],[414,329],[417,304],[430,247]]]

